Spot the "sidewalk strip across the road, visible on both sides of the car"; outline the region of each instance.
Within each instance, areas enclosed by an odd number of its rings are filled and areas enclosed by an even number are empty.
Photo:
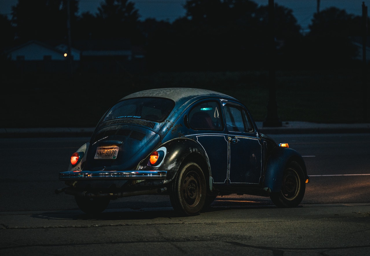
[[[281,127],[263,127],[256,122],[260,133],[264,134],[304,134],[304,133],[370,133],[370,123],[323,124],[310,122],[283,122]],[[0,128],[0,138],[35,137],[90,137],[94,127],[84,128]]]

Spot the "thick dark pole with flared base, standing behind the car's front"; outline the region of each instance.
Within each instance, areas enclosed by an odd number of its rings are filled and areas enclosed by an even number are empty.
[[[267,116],[263,122],[264,127],[280,127],[282,122],[277,116],[277,103],[276,103],[276,85],[275,85],[275,3],[274,0],[269,0],[269,101],[267,104]]]

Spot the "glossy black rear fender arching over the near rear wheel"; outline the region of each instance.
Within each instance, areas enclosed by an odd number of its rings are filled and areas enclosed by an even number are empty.
[[[211,177],[211,165],[203,147],[195,140],[189,138],[176,138],[169,140],[158,147],[165,148],[166,154],[160,165],[150,166],[149,156],[141,161],[137,170],[162,170],[167,171],[165,182],[172,181],[184,161],[194,161],[200,165],[205,177]]]

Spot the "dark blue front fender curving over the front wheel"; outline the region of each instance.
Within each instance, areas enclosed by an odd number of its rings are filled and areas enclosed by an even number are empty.
[[[287,147],[275,147],[266,163],[265,180],[263,182],[263,188],[266,191],[278,192],[281,190],[284,170],[291,161],[299,163],[307,177],[305,161],[297,151]]]

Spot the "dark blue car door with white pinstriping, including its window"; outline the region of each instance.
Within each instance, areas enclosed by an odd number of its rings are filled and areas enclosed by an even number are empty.
[[[246,109],[223,102],[229,145],[229,184],[259,184],[262,177],[262,140]]]

